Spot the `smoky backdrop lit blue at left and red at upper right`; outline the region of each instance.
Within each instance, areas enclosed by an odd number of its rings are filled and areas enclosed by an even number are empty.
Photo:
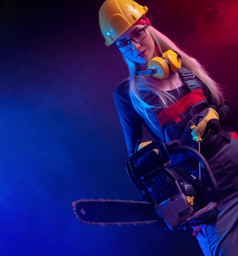
[[[103,1],[0,3],[0,255],[201,256],[191,230],[86,226],[81,198],[140,200],[113,90],[128,74],[98,25]],[[141,0],[238,112],[236,0]],[[237,130],[237,122],[230,127]]]

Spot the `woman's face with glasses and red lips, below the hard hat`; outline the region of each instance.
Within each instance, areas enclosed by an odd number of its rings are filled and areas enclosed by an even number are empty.
[[[154,40],[151,37],[147,27],[142,29],[143,27],[145,26],[140,24],[131,26],[116,41],[116,45],[119,46],[119,50],[121,50],[120,46],[122,46],[121,52],[123,52],[125,47],[128,47],[129,42],[127,40],[131,42],[131,49],[129,49],[129,51],[125,52],[123,55],[129,58],[131,61],[137,62],[140,70],[148,69],[147,63],[151,60],[151,58],[157,56]],[[137,43],[133,39],[136,41],[140,41],[140,39],[142,40]]]

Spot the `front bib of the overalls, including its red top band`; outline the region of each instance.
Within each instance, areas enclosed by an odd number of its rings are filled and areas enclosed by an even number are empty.
[[[201,89],[185,97],[157,114],[165,141],[179,139],[182,145],[191,146],[191,132],[185,131],[187,122],[200,111],[208,108],[208,102]]]

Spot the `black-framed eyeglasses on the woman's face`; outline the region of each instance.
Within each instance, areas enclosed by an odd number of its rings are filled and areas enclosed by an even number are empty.
[[[131,40],[133,40],[136,43],[140,43],[142,40],[144,40],[147,36],[145,29],[149,26],[146,25],[145,27],[142,27],[142,29],[137,30],[131,38],[123,41],[120,43],[120,45],[117,46],[117,49],[120,51],[121,54],[125,54],[126,52],[129,52],[131,49]]]

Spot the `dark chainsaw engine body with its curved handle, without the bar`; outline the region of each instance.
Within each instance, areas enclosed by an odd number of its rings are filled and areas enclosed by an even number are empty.
[[[159,154],[151,154],[154,149]],[[177,146],[169,153],[164,144],[158,142],[152,142],[140,150],[129,158],[127,172],[142,199],[154,204],[162,226],[165,223],[171,230],[187,229],[216,218],[216,180],[200,153],[185,146]],[[189,153],[200,162],[211,183],[210,187],[187,169],[164,165],[170,154],[181,152]],[[149,164],[140,161],[148,155]]]

